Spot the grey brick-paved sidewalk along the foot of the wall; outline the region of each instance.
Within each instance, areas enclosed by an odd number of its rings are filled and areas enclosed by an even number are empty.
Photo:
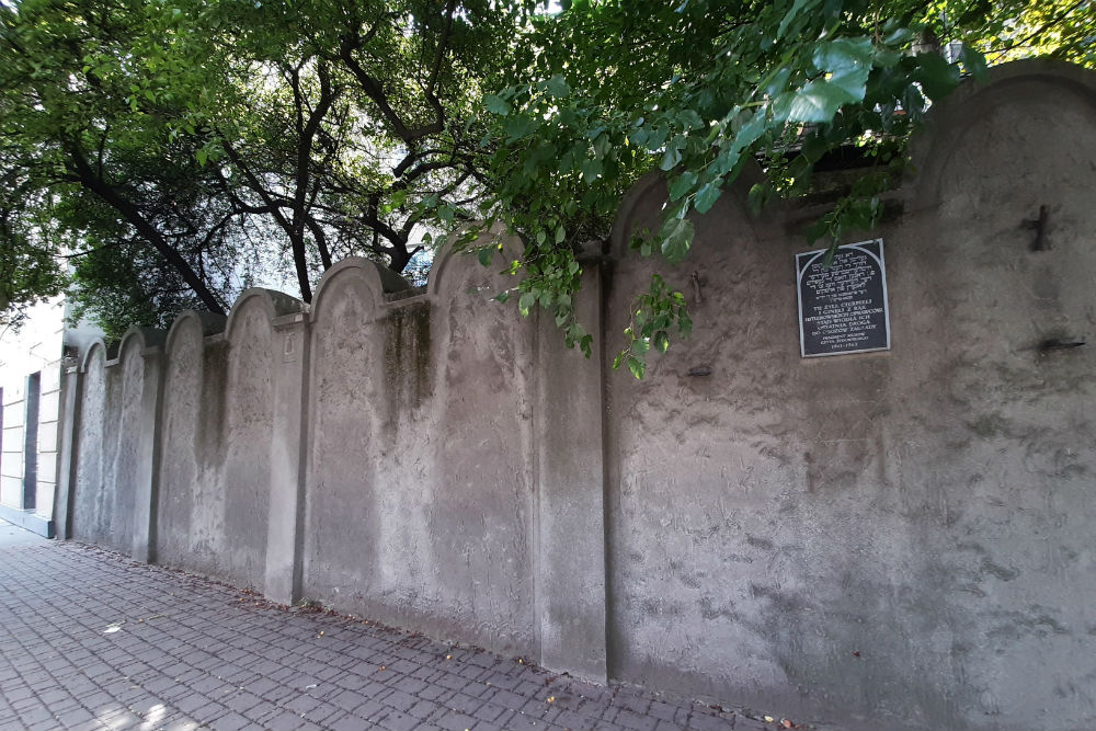
[[[753,717],[753,718],[751,718]],[[0,729],[778,729],[71,542],[0,541]]]

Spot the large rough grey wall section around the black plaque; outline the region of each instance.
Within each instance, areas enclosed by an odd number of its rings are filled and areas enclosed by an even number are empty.
[[[801,359],[795,236],[740,195],[696,221],[693,339],[609,380],[617,677],[872,727],[1096,721],[1096,363],[1039,347],[1096,323],[1096,92],[1048,69],[937,111],[880,232],[890,352]],[[618,265],[607,332],[647,277]]]

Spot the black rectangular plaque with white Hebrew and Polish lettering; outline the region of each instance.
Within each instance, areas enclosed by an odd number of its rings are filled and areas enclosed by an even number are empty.
[[[804,358],[890,350],[883,240],[796,254],[799,344]]]

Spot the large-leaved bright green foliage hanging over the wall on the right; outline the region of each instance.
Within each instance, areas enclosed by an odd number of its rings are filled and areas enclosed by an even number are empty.
[[[571,342],[589,344],[571,309],[576,244],[607,241],[624,192],[650,170],[665,174],[670,201],[660,230],[632,243],[673,264],[688,254],[690,215],[710,209],[746,164],[765,173],[750,191],[760,208],[807,193],[820,160],[857,146],[874,164],[809,232],[835,247],[878,220],[879,196],[933,102],[981,76],[987,55],[1032,38],[1092,62],[1094,16],[1088,0],[570,3],[536,24],[527,72],[486,99],[501,140],[493,210],[529,242],[520,306],[551,308]],[[654,276],[616,365],[641,376],[648,351],[690,324],[684,297]]]

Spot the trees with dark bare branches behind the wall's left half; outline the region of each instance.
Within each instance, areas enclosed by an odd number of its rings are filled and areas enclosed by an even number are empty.
[[[346,255],[402,271],[481,195],[468,123],[525,5],[0,4],[3,173],[35,193],[5,202],[26,224],[5,240],[75,255],[112,332],[224,311],[254,262],[285,262],[306,301]]]

